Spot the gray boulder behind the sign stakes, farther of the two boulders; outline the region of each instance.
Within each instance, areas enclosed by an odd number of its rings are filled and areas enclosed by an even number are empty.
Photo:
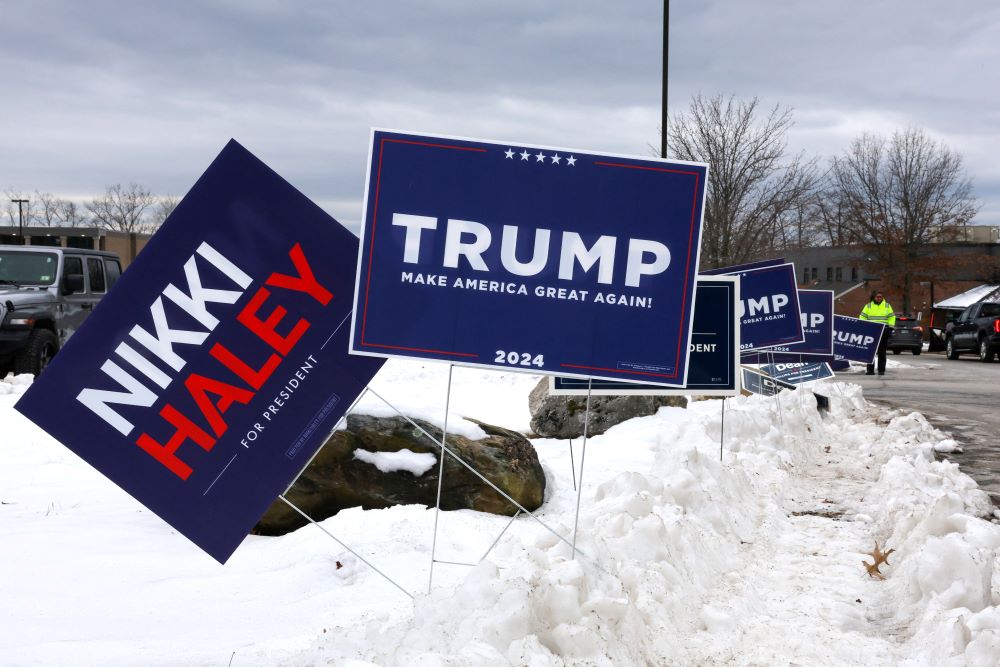
[[[590,423],[587,435],[600,435],[615,424],[656,414],[663,406],[685,408],[684,396],[591,396]],[[587,413],[586,396],[552,396],[549,379],[542,380],[528,396],[531,429],[546,438],[583,437],[583,420]]]

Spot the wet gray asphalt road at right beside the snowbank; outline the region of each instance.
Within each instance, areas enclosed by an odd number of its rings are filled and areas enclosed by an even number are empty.
[[[884,376],[862,368],[837,380],[860,384],[875,403],[922,413],[964,449],[939,456],[957,463],[1000,506],[1000,361],[984,364],[972,354],[949,361],[926,351],[888,358]]]

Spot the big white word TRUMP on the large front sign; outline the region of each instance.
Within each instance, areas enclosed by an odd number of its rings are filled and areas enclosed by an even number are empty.
[[[426,215],[393,213],[392,224],[406,230],[403,241],[403,262],[419,264],[424,232],[436,232],[438,220]],[[507,272],[516,276],[536,276],[545,270],[551,259],[552,231],[541,228],[534,230],[531,258],[527,261],[517,257],[517,239],[521,231],[514,225],[504,225],[500,239],[500,264]],[[490,249],[492,243],[493,234],[486,225],[473,220],[449,218],[444,234],[442,265],[457,269],[464,258],[465,263],[473,271],[491,271],[483,254]],[[557,275],[560,280],[574,280],[577,266],[585,274],[596,266],[597,282],[604,285],[614,282],[617,237],[600,236],[588,247],[578,233],[564,231],[559,243]],[[639,287],[643,276],[663,273],[670,267],[670,259],[670,249],[663,243],[650,239],[630,238],[625,274],[622,277],[625,286]],[[784,295],[777,296],[784,298],[785,303],[788,302],[788,298]]]

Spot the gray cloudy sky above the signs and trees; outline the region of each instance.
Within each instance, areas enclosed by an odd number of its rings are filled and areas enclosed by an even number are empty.
[[[373,126],[648,155],[662,6],[0,0],[0,189],[180,196],[233,137],[356,229]],[[997,225],[998,56],[992,0],[674,0],[670,110],[758,96],[823,158],[924,128]]]

